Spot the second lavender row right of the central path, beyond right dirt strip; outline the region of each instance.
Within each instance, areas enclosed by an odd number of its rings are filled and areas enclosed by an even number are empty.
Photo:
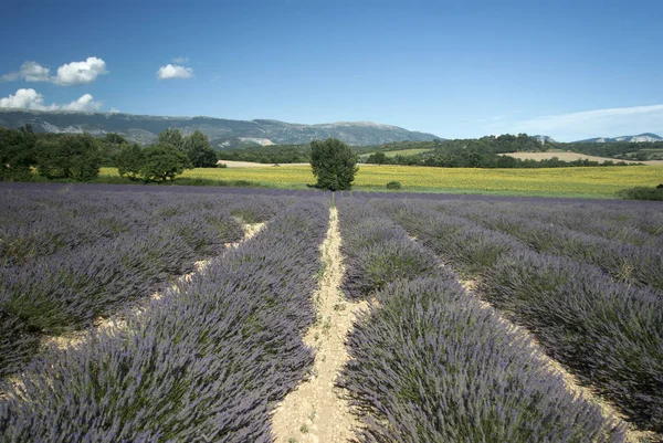
[[[550,356],[630,421],[663,431],[660,291],[617,282],[585,261],[537,253],[514,236],[427,208],[430,202],[373,204],[465,278],[477,279],[483,297],[529,328]],[[486,211],[483,220],[497,218]]]

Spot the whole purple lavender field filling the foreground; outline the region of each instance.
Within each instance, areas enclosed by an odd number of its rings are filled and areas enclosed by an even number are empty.
[[[345,303],[348,407],[275,431]],[[0,320],[1,442],[663,439],[657,203],[3,183]]]

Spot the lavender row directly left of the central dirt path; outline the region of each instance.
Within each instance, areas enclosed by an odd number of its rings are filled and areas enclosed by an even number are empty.
[[[267,442],[311,369],[302,341],[328,200],[304,200],[126,326],[35,359],[0,400],[7,442]]]

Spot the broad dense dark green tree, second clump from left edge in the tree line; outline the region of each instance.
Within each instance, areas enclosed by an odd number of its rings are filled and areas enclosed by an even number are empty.
[[[88,181],[98,177],[101,166],[97,141],[87,134],[42,138],[36,141],[36,169],[49,179],[73,178]]]

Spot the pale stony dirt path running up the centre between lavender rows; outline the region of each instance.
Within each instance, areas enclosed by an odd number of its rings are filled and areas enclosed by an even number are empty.
[[[332,208],[329,230],[320,250],[324,272],[314,295],[316,321],[304,341],[316,350],[313,375],[276,407],[272,430],[277,443],[335,443],[354,437],[359,426],[345,390],[335,386],[348,360],[345,339],[366,302],[350,303],[339,289],[344,275],[338,212]]]

